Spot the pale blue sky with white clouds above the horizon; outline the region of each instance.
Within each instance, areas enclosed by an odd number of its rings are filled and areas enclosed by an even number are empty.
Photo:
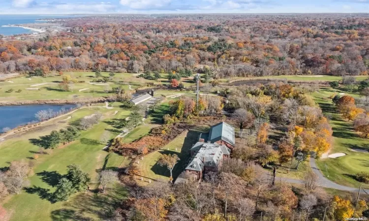
[[[0,14],[368,13],[369,0],[0,0]]]

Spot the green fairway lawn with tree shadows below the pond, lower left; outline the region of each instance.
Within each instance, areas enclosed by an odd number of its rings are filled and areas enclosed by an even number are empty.
[[[95,108],[97,110],[97,108]],[[96,110],[83,109],[73,113],[73,120],[79,117],[90,115]],[[99,124],[88,131],[82,131],[81,137],[67,146],[56,148],[51,155],[40,155],[33,167],[34,175],[29,179],[31,186],[18,195],[11,196],[6,200],[3,206],[12,214],[13,221],[48,221],[48,220],[82,220],[86,217],[93,220],[105,218],[114,202],[125,197],[124,188],[117,184],[112,187],[106,195],[101,193],[78,193],[73,195],[67,202],[51,203],[48,199],[55,189],[58,178],[65,173],[66,166],[77,164],[90,173],[94,189],[97,183],[97,171],[102,167],[117,168],[124,163],[124,158],[119,155],[109,154],[102,151],[104,146],[99,142],[101,134],[106,129],[113,127],[106,123],[109,118],[125,118],[129,111],[122,109],[98,109],[105,118]],[[112,115],[117,110],[118,114]],[[69,122],[71,123],[71,122]],[[9,138],[0,144],[0,165],[8,166],[7,162],[13,160],[22,160],[26,157],[32,157],[32,151],[38,149],[37,146],[29,142],[29,138],[38,138],[38,136],[50,133],[50,130],[65,127],[67,123],[53,122],[45,125],[41,132],[29,132],[22,137]],[[58,125],[58,126],[55,126]],[[115,133],[111,134],[114,137]],[[13,142],[15,141],[16,142]],[[16,145],[14,145],[16,143]]]

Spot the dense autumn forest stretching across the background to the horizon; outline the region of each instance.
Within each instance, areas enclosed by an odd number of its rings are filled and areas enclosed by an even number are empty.
[[[216,79],[368,74],[367,14],[116,15],[62,22],[65,32],[2,38],[0,73],[201,72],[208,66]]]

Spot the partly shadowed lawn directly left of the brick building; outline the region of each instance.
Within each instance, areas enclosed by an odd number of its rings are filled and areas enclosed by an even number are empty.
[[[148,154],[143,160],[136,164],[140,169],[140,176],[136,176],[141,185],[147,185],[148,179],[169,181],[169,170],[157,164],[157,159],[162,154],[177,154],[181,159],[173,169],[173,178],[176,178],[187,166],[190,157],[190,149],[196,143],[196,138],[201,132],[209,130],[207,126],[197,126],[189,131],[184,132],[166,146],[153,153]],[[140,181],[143,177],[144,180]]]

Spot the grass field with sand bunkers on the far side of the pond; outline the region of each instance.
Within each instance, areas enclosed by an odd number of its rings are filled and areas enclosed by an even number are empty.
[[[108,72],[101,72],[103,77],[108,77]],[[70,75],[77,81],[85,81],[86,83],[74,83],[72,91],[62,91],[58,83],[62,81],[60,75],[48,75],[46,77],[17,77],[0,82],[0,101],[25,101],[25,100],[51,100],[51,99],[67,99],[73,100],[78,98],[88,97],[103,97],[112,95],[105,92],[106,89],[112,90],[113,87],[121,85],[123,89],[129,90],[128,84],[132,89],[147,83],[163,83],[168,84],[168,75],[161,74],[157,81],[137,78],[137,74],[116,73],[112,81],[108,83],[95,83],[93,80],[101,79],[95,78],[94,72],[64,72],[63,75]],[[193,84],[190,80],[183,79],[185,86]],[[99,85],[108,84],[108,85]],[[27,90],[27,88],[38,88],[39,90]],[[86,89],[79,91],[80,89]],[[9,91],[13,89],[13,91]],[[19,91],[21,90],[21,91]],[[19,92],[17,92],[19,91]]]

